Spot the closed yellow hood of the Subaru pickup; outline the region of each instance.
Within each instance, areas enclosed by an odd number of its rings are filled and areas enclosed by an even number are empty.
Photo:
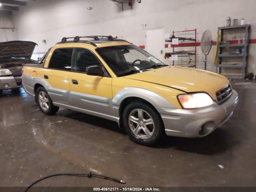
[[[183,92],[207,92],[214,100],[216,91],[229,83],[228,79],[220,74],[178,66],[166,66],[124,78],[160,84]]]

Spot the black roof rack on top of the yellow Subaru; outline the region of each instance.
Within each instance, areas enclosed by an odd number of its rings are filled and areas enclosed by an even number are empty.
[[[100,39],[100,38],[108,38],[108,39]],[[90,41],[90,40],[80,40],[80,38],[93,38],[95,41],[123,41],[123,42],[128,42],[126,40],[123,39],[117,39],[117,38],[113,38],[111,35],[109,36],[102,36],[102,35],[93,35],[93,36],[75,36],[75,37],[63,37],[61,42],[58,42],[57,44],[60,43],[66,43],[66,42],[72,42],[72,41],[67,41],[67,39],[74,39],[73,42],[83,42],[83,43],[88,43],[91,44],[93,46],[97,46],[94,42]],[[130,42],[128,42],[130,43]],[[130,43],[132,44],[132,43]]]

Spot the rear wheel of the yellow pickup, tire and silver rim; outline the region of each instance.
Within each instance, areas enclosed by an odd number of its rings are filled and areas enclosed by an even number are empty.
[[[52,104],[50,96],[43,87],[36,90],[36,100],[40,110],[46,115],[53,115],[59,110],[59,107]]]

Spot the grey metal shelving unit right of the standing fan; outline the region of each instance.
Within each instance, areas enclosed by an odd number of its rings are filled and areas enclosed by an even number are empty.
[[[226,27],[218,27],[218,30],[221,30],[221,41],[223,41],[223,30],[235,30],[238,28],[244,28],[244,44],[229,44],[227,45],[228,47],[238,47],[238,48],[244,48],[244,54],[222,54],[223,50],[222,48],[225,48],[226,45],[219,45],[220,49],[220,54],[218,54],[218,57],[220,58],[220,62],[216,65],[216,72],[219,71],[221,74],[222,68],[241,68],[242,72],[241,75],[239,76],[228,76],[226,75],[227,78],[231,79],[244,79],[245,73],[246,73],[246,64],[247,64],[247,47],[248,47],[248,34],[249,34],[249,24],[245,25],[238,25],[238,26],[226,26]],[[243,58],[242,59],[242,64],[222,64],[222,58],[228,58],[228,57],[238,57],[238,58]]]

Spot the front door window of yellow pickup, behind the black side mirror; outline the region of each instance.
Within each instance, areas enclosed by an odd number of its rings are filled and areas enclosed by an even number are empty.
[[[75,49],[72,71],[85,73],[85,69],[88,66],[102,66],[102,65],[90,50],[83,49],[83,48]]]

